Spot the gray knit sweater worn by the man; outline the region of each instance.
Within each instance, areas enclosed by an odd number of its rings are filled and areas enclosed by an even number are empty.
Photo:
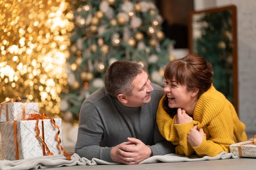
[[[135,137],[148,145],[153,155],[174,153],[173,145],[159,133],[156,123],[160,86],[152,84],[151,102],[140,107],[126,107],[111,97],[104,87],[82,104],[75,152],[88,159],[113,162],[112,147]]]

